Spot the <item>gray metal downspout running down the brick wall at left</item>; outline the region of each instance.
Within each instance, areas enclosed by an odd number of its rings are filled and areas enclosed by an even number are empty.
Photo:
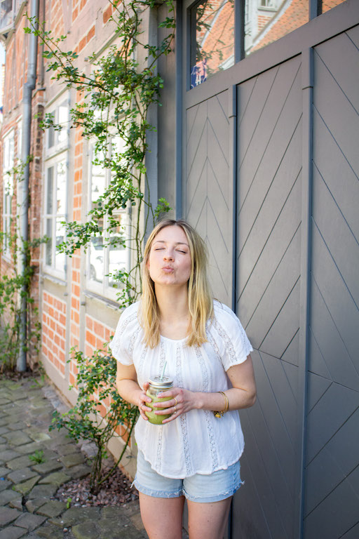
[[[35,18],[36,29],[39,20],[39,0],[32,0],[30,17]],[[29,59],[27,62],[27,81],[22,95],[22,152],[24,165],[23,178],[18,183],[19,235],[20,235],[20,275],[25,276],[27,269],[27,240],[29,228],[29,157],[31,149],[32,91],[36,86],[37,36],[30,34]],[[17,369],[26,371],[27,347],[27,286],[22,284],[20,291],[20,351]]]

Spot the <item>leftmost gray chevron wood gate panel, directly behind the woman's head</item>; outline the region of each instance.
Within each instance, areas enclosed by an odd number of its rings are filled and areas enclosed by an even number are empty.
[[[216,298],[231,305],[233,185],[228,92],[187,110],[186,217],[208,245]]]

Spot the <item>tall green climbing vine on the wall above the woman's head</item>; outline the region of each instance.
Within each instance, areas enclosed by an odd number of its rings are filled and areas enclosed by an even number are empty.
[[[115,241],[135,251],[130,270],[120,270],[113,275],[121,283],[118,300],[123,307],[140,293],[144,234],[160,214],[170,210],[165,199],[159,199],[154,207],[146,196],[149,185],[145,158],[151,150],[147,135],[154,131],[149,123],[149,109],[159,104],[163,88],[163,79],[157,72],[158,59],[172,50],[175,19],[173,0],[165,0],[169,16],[158,26],[167,28],[168,32],[160,44],[149,44],[143,41],[142,14],[146,9],[153,10],[156,2],[114,0],[111,4],[114,10],[110,20],[118,44],[109,47],[101,57],[96,53],[90,55],[87,62],[91,69],[79,69],[78,54],[62,50],[66,36],[53,36],[51,30],[46,30],[45,23],[39,22],[36,29],[36,21],[28,18],[29,27],[25,32],[36,34],[46,47],[43,56],[47,70],[53,72],[53,79],[76,89],[79,99],[70,111],[72,126],[81,128],[82,136],[93,142],[93,164],[111,171],[109,185],[88,212],[86,222],[64,223],[66,239],[59,251],[71,256],[99,236],[113,246],[114,235],[111,237],[110,233],[118,229],[116,211],[133,208],[129,237],[123,231],[115,237]],[[144,52],[141,61],[137,59],[140,51]],[[51,114],[46,114],[42,126],[61,129]],[[111,146],[114,138],[121,139],[120,148]]]

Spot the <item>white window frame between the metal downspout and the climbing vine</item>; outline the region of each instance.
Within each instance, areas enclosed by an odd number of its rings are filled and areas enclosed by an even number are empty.
[[[59,173],[58,167],[60,164],[63,163],[65,166],[65,195],[64,195],[64,211],[62,213],[57,213],[56,211],[56,204],[57,204],[57,175]],[[50,168],[53,168],[53,187],[52,187],[52,196],[51,196],[51,205],[52,205],[52,211],[48,211],[48,175]],[[50,238],[56,239],[56,223],[57,220],[60,221],[67,221],[67,195],[68,195],[68,188],[69,188],[69,161],[68,161],[68,154],[67,152],[62,152],[61,154],[57,154],[52,159],[48,159],[45,164],[45,171],[44,171],[44,184],[45,184],[45,198],[43,201],[43,234],[49,235],[48,232],[48,222],[50,221],[51,224],[51,230],[50,230]],[[50,248],[50,263],[48,263],[48,250]],[[52,274],[54,277],[57,277],[58,279],[65,280],[66,278],[66,270],[67,270],[67,257],[65,254],[61,254],[64,258],[64,263],[61,268],[56,267],[56,256],[60,256],[59,254],[56,254],[56,241],[48,242],[43,246],[43,268],[46,273]],[[58,260],[58,259],[57,259]]]

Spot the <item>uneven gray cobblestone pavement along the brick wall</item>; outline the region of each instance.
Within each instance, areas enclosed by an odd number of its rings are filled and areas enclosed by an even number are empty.
[[[147,538],[137,501],[68,509],[50,499],[90,468],[79,445],[61,431],[48,432],[54,406],[46,395],[55,392],[33,378],[0,380],[0,539]],[[29,459],[36,451],[45,462]]]

